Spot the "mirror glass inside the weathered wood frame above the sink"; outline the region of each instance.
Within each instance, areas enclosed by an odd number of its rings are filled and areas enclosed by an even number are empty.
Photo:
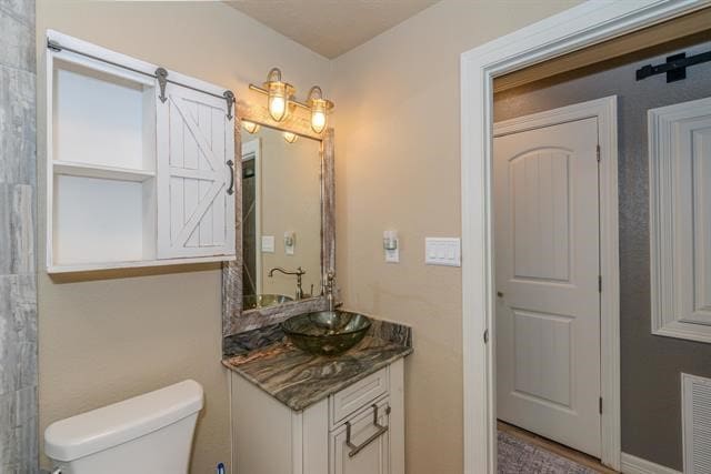
[[[249,124],[242,134],[242,310],[321,292],[321,142]]]

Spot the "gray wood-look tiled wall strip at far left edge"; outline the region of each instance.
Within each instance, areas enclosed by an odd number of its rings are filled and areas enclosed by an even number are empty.
[[[0,0],[0,474],[38,471],[34,1]]]

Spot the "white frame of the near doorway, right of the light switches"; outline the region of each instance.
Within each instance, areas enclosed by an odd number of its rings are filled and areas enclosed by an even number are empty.
[[[690,13],[709,0],[590,0],[461,54],[464,473],[495,473],[491,160],[493,79]],[[603,282],[604,285],[604,282]],[[609,282],[608,282],[609,285]],[[619,289],[603,288],[619,294]],[[610,350],[618,350],[610,347]],[[619,376],[618,376],[619,379]],[[619,470],[620,438],[604,463]]]

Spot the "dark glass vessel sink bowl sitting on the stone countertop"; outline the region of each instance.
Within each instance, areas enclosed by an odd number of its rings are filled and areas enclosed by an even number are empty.
[[[299,314],[281,323],[297,347],[317,355],[338,355],[358,344],[370,329],[370,319],[347,311]]]

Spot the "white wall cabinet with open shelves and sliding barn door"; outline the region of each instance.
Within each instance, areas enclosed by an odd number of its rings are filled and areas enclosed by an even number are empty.
[[[234,259],[232,92],[47,38],[48,272]]]

